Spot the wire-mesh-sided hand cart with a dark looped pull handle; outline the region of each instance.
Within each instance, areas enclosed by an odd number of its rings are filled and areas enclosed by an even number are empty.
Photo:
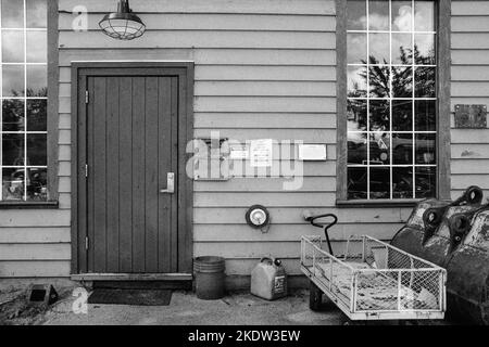
[[[317,218],[333,217],[326,227]],[[326,239],[302,236],[301,270],[311,280],[310,307],[325,294],[352,321],[443,319],[447,271],[367,235],[353,236],[335,256],[327,230],[334,215],[306,217]],[[325,250],[325,244],[327,250]]]

